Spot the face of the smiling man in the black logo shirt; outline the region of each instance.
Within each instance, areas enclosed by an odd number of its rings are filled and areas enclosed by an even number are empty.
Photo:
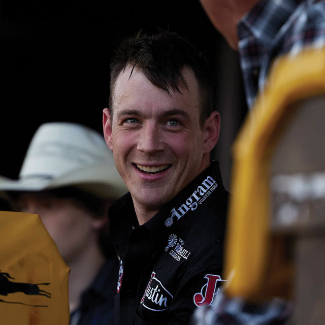
[[[183,69],[188,89],[170,89],[172,96],[139,70],[131,78],[130,72],[128,67],[116,80],[111,120],[104,110],[104,135],[136,211],[156,212],[209,166],[217,137],[211,146],[207,122],[200,127],[199,86],[190,69]],[[212,115],[218,124],[218,114]]]

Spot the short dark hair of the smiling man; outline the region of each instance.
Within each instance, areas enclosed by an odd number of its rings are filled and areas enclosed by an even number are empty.
[[[179,85],[187,88],[181,71],[184,67],[190,68],[200,87],[201,126],[213,111],[214,80],[204,54],[175,32],[160,30],[159,34],[147,35],[140,31],[136,36],[124,40],[112,58],[109,98],[111,117],[116,79],[127,66],[132,66],[132,72],[134,69],[140,70],[152,84],[170,96],[169,89],[181,93]]]

